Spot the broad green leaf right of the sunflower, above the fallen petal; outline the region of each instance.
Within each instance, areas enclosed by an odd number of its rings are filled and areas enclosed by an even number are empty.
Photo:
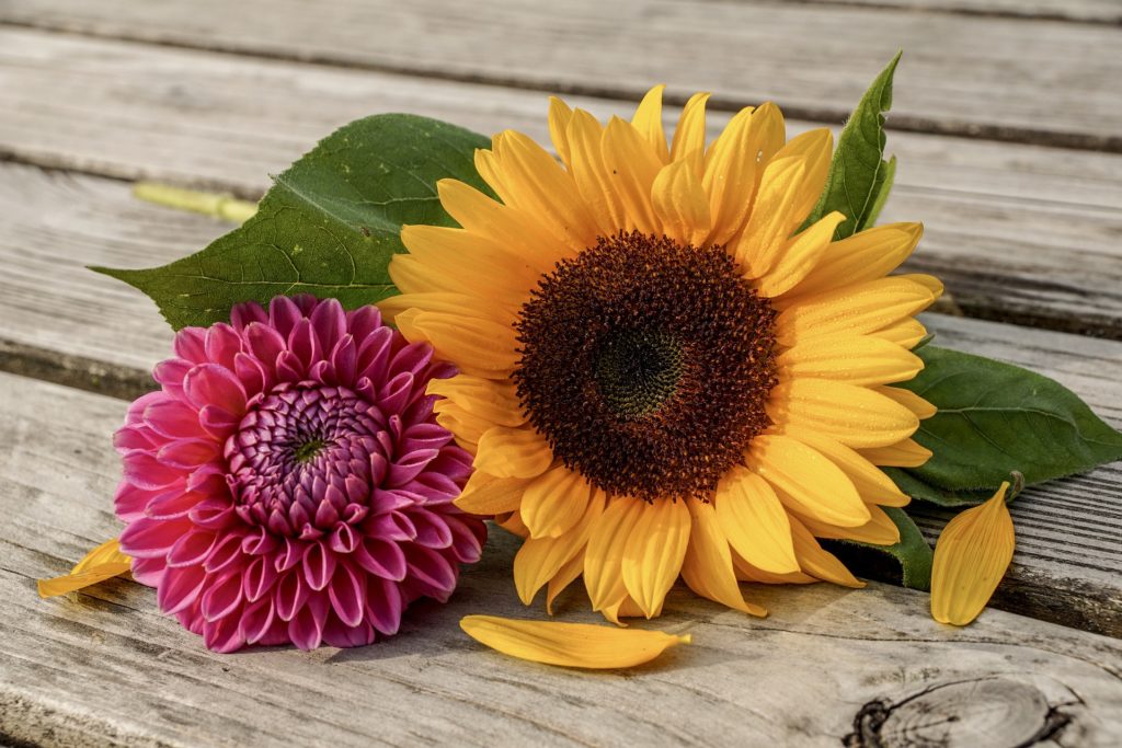
[[[898,387],[939,408],[914,435],[935,454],[890,472],[914,498],[977,504],[1013,471],[1033,486],[1122,458],[1122,434],[1047,377],[935,345],[917,355],[923,371]]]

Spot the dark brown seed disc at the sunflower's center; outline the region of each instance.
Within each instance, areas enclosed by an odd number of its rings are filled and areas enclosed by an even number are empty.
[[[723,247],[601,238],[522,307],[518,397],[595,486],[705,498],[770,423],[774,318]]]

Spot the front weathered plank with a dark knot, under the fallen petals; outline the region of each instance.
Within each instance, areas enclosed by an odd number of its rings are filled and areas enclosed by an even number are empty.
[[[234,656],[158,615],[126,581],[40,601],[118,530],[107,435],[125,404],[0,375],[0,740],[33,745],[1109,746],[1122,740],[1122,644],[1001,611],[940,626],[882,584],[752,593],[763,620],[682,590],[654,625],[695,644],[650,666],[585,673],[508,659],[463,636],[516,617],[511,536],[494,532],[448,606],[353,650]],[[66,414],[59,428],[58,414]],[[573,592],[565,620],[594,621]],[[1004,719],[995,718],[1004,714]],[[983,730],[982,733],[978,731]],[[913,742],[905,744],[905,740]]]

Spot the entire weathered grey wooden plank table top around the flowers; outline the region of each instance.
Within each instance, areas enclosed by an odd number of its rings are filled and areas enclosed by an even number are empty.
[[[791,130],[836,128],[898,47],[882,220],[925,222],[907,267],[956,303],[925,322],[1122,425],[1118,0],[0,0],[0,745],[1122,745],[1120,463],[1018,499],[1013,566],[971,627],[876,582],[761,590],[763,620],[675,590],[657,627],[693,646],[626,672],[460,632],[543,616],[497,529],[450,603],[352,650],[215,655],[125,580],[35,593],[119,533],[110,434],[172,338],[85,266],[230,229],[134,182],[256,197],[365,114],[544,140],[546,93],[603,118],[659,82],[675,104],[712,91],[712,130],[764,100]]]

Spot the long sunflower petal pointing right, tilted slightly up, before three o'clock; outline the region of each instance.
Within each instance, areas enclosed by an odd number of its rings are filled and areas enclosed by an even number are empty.
[[[935,296],[907,278],[881,278],[800,299],[775,320],[779,342],[787,347],[817,338],[863,335],[914,315]]]

